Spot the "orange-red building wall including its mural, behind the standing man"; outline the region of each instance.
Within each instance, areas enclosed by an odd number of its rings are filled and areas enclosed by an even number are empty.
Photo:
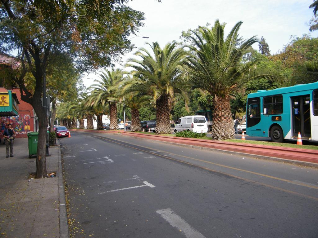
[[[13,89],[20,102],[18,116],[1,116],[0,117],[0,135],[2,137],[3,131],[7,124],[11,123],[17,138],[27,137],[28,132],[34,131],[34,114],[31,104],[26,103],[20,98],[20,90]]]

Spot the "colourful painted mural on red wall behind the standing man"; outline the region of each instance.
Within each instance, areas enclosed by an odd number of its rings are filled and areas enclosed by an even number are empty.
[[[0,132],[3,135],[4,129],[11,123],[16,134],[27,134],[32,132],[30,125],[29,114],[19,114],[18,116],[1,116],[0,117]]]

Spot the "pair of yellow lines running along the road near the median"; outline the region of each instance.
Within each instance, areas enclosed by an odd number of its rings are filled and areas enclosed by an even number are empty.
[[[292,194],[295,194],[295,195],[301,195],[301,196],[304,196],[304,197],[307,197],[307,198],[310,198],[310,199],[318,201],[318,198],[316,198],[316,197],[312,197],[312,196],[304,195],[304,194],[301,194],[301,193],[293,192],[293,191],[290,191],[290,190],[287,190],[287,189],[284,189],[284,188],[278,188],[278,187],[275,187],[275,186],[272,186],[272,185],[268,185],[268,184],[265,184],[265,183],[253,181],[253,180],[250,180],[250,179],[246,179],[246,178],[239,177],[239,176],[236,176],[236,175],[228,174],[228,173],[221,172],[221,171],[218,171],[218,170],[209,169],[209,168],[206,168],[206,167],[203,167],[203,166],[200,166],[200,165],[197,165],[197,164],[193,164],[193,163],[190,163],[190,162],[186,162],[186,161],[183,161],[183,160],[178,160],[178,159],[171,158],[171,157],[168,157],[168,156],[163,156],[163,155],[159,155],[159,154],[156,154],[156,153],[152,153],[152,152],[149,152],[147,150],[143,150],[143,149],[139,149],[139,148],[136,148],[136,147],[133,147],[133,146],[125,145],[121,141],[116,140],[116,139],[109,140],[109,139],[107,139],[105,137],[95,136],[95,135],[91,135],[91,134],[89,134],[89,135],[93,136],[93,137],[97,137],[97,138],[103,139],[103,140],[107,140],[109,142],[113,142],[113,143],[116,143],[116,144],[124,145],[124,146],[129,147],[129,148],[137,149],[137,150],[140,150],[140,151],[152,154],[152,155],[160,156],[162,158],[167,158],[167,159],[170,159],[170,160],[182,162],[182,163],[185,163],[185,164],[188,164],[188,165],[192,165],[192,166],[195,166],[195,167],[198,167],[198,168],[201,168],[201,169],[205,169],[205,170],[208,170],[208,171],[211,171],[211,172],[221,173],[221,174],[228,175],[228,176],[231,176],[231,177],[234,177],[234,178],[243,179],[243,180],[248,181],[248,182],[257,183],[257,184],[264,185],[264,186],[269,187],[269,188],[275,188],[275,189],[278,189],[280,191],[292,193]],[[115,142],[113,140],[118,141],[118,142]],[[135,145],[135,146],[139,146],[139,147],[143,147],[143,148],[146,148],[146,149],[153,150],[153,148],[150,148],[150,147],[136,145],[136,144],[133,144],[133,143],[130,143],[130,142],[125,142],[125,143],[129,143],[131,145]],[[282,178],[274,177],[274,176],[271,176],[271,175],[260,174],[260,173],[252,172],[252,171],[245,170],[245,169],[238,169],[238,168],[235,168],[235,167],[231,167],[231,166],[227,166],[227,165],[223,165],[223,164],[218,164],[218,163],[214,163],[214,162],[210,162],[210,161],[200,160],[200,159],[188,157],[188,156],[185,156],[185,155],[178,155],[178,154],[170,153],[170,152],[167,152],[167,151],[161,151],[161,152],[168,153],[170,155],[176,155],[176,156],[184,157],[184,158],[195,160],[195,161],[200,161],[200,162],[205,162],[205,163],[217,165],[217,166],[228,168],[228,169],[234,169],[234,170],[238,170],[238,171],[242,171],[242,172],[246,172],[246,173],[250,173],[250,174],[255,174],[255,175],[259,175],[259,176],[263,176],[263,177],[267,177],[267,178],[272,178],[272,179],[275,179],[275,180],[288,182],[288,183],[292,183],[292,184],[296,184],[296,185],[300,185],[300,186],[304,186],[304,187],[308,187],[308,188],[318,189],[318,187],[315,186],[315,185],[309,185],[309,184],[304,184],[304,183],[299,183],[299,182],[293,182],[292,180],[282,179]]]

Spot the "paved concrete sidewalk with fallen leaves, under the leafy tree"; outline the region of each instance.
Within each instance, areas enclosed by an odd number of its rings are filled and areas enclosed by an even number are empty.
[[[28,138],[15,139],[14,157],[9,158],[5,157],[5,145],[1,143],[1,238],[69,237],[60,147],[50,147],[49,153],[51,156],[46,157],[47,172],[56,171],[57,177],[29,180],[29,174],[36,172],[36,157],[30,159],[28,156]]]

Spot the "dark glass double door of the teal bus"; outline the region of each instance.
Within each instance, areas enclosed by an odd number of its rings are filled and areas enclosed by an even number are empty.
[[[300,132],[302,137],[311,137],[310,128],[310,95],[292,97],[293,136]]]

